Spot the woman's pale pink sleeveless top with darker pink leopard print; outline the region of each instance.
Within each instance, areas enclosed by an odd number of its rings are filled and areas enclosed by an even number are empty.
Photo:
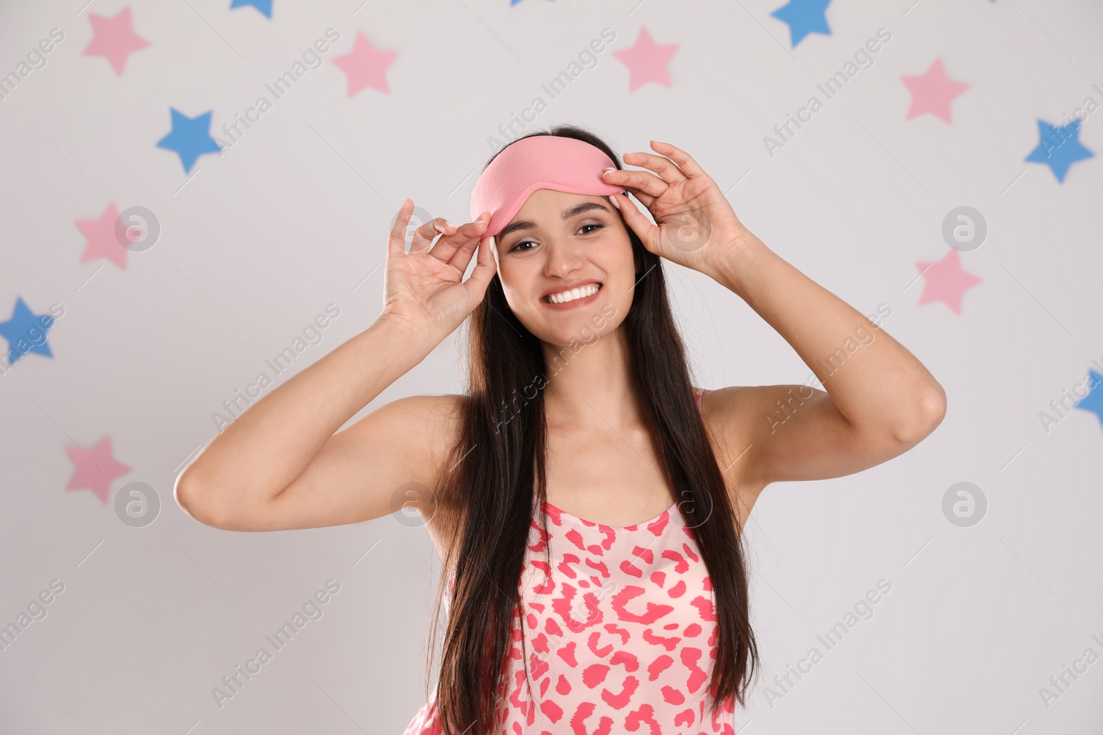
[[[730,701],[709,712],[713,586],[678,504],[623,528],[545,508],[547,536],[534,515],[522,568],[502,735],[733,735]],[[441,734],[435,698],[404,735]]]

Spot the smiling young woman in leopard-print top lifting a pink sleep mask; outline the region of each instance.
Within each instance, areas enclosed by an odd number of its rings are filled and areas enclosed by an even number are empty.
[[[408,735],[733,733],[758,664],[741,549],[756,498],[895,457],[945,413],[914,356],[748,231],[687,153],[652,148],[624,171],[578,127],[518,139],[481,174],[474,220],[427,223],[409,252],[406,199],[376,322],[178,480],[183,508],[229,530],[355,523],[410,496],[448,623]],[[695,389],[664,258],[743,299],[827,392]],[[469,315],[464,394],[336,431]]]

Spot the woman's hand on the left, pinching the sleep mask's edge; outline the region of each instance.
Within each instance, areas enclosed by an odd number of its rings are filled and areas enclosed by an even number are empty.
[[[490,223],[490,213],[456,227],[438,217],[419,227],[406,252],[406,227],[414,214],[414,202],[406,198],[387,241],[387,268],[383,280],[384,306],[379,318],[403,323],[415,334],[440,342],[482,301],[494,275],[491,249],[494,238],[481,239]],[[432,245],[432,239],[440,239]],[[432,245],[430,249],[430,245]],[[474,269],[467,281],[463,272],[479,250]]]

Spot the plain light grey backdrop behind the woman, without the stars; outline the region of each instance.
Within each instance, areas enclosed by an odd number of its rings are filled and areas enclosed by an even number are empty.
[[[224,532],[184,515],[172,485],[215,433],[212,412],[326,304],[341,315],[295,370],[373,322],[387,227],[405,196],[470,219],[488,138],[547,98],[540,84],[603,28],[617,40],[536,126],[580,122],[620,152],[647,150],[651,138],[689,151],[774,251],[864,314],[891,307],[884,328],[949,396],[945,421],[913,451],[762,495],[748,543],[767,671],[740,732],[1099,732],[1103,662],[1049,707],[1038,691],[1084,649],[1103,655],[1092,639],[1103,638],[1103,431],[1086,411],[1048,433],[1039,420],[1103,361],[1096,117],[1081,133],[1096,158],[1063,184],[1024,159],[1038,118],[1061,122],[1088,96],[1103,102],[1092,89],[1103,84],[1103,6],[836,0],[833,35],[790,48],[788,26],[769,14],[782,0],[275,0],[270,21],[227,0],[136,0],[135,28],[152,45],[119,77],[81,52],[88,13],[125,6],[84,2],[0,9],[0,72],[51,28],[66,36],[0,101],[0,321],[17,296],[36,313],[65,309],[49,333],[53,359],[28,355],[0,378],[0,623],[51,580],[65,584],[47,617],[0,652],[0,732],[401,732],[424,701],[438,561],[424,529],[388,517]],[[154,148],[170,106],[213,110],[218,134],[330,26],[341,40],[325,63],[222,158],[202,156],[193,179]],[[628,91],[612,52],[642,26],[678,44],[673,87]],[[875,65],[769,156],[763,136],[882,26],[892,40]],[[329,60],[356,31],[397,52],[389,94],[346,97]],[[936,57],[971,85],[953,123],[904,120],[899,76]],[[125,271],[79,262],[75,220],[111,202],[148,207],[162,227]],[[945,255],[942,219],[962,205],[989,231],[961,255],[983,282],[957,315],[918,304],[915,263]],[[735,294],[666,268],[697,385],[808,381]],[[367,408],[460,390],[456,337]],[[65,491],[65,447],[104,434],[133,468],[113,484],[113,502],[126,483],[148,483],[162,502],[151,526],[130,528],[90,491]],[[988,499],[971,528],[942,514],[959,482]],[[324,615],[218,709],[212,688],[330,579],[341,591]],[[813,646],[824,651],[816,635],[880,579],[892,588],[874,617],[768,702],[773,675]]]

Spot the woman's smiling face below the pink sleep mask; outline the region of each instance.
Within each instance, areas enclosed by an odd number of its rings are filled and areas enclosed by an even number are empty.
[[[607,197],[538,188],[494,240],[505,299],[537,338],[590,342],[628,314],[632,242]]]

